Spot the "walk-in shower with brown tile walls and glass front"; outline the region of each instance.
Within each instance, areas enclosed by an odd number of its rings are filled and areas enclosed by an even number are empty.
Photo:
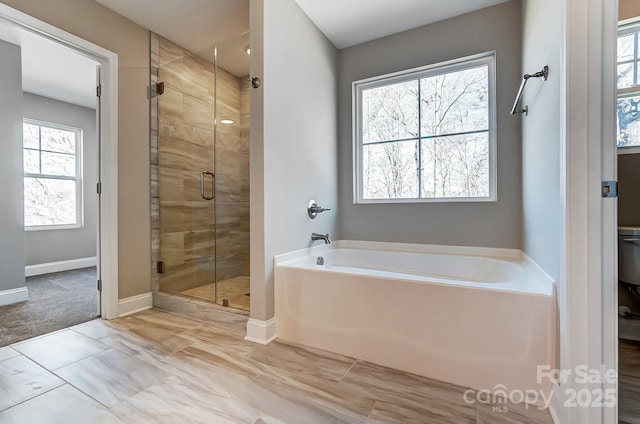
[[[154,292],[249,309],[249,34],[151,34]]]

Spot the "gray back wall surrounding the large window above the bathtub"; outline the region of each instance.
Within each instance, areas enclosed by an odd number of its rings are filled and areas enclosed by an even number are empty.
[[[521,77],[520,22],[516,0],[339,52],[341,238],[520,247],[521,127],[520,118],[509,115]],[[492,50],[497,64],[498,201],[353,204],[351,83]]]

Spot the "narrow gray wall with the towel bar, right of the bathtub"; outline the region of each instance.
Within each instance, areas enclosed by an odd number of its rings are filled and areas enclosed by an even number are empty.
[[[556,280],[560,275],[560,2],[523,2],[522,69],[549,65],[549,79],[527,83],[522,120],[523,250]]]

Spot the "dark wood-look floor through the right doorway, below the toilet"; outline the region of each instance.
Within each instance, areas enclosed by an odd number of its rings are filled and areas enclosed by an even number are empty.
[[[620,339],[618,343],[619,422],[640,424],[640,343]]]

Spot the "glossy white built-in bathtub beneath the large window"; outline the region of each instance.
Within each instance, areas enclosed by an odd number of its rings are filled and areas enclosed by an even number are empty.
[[[554,297],[518,250],[338,241],[275,258],[279,339],[479,390],[549,389]]]

